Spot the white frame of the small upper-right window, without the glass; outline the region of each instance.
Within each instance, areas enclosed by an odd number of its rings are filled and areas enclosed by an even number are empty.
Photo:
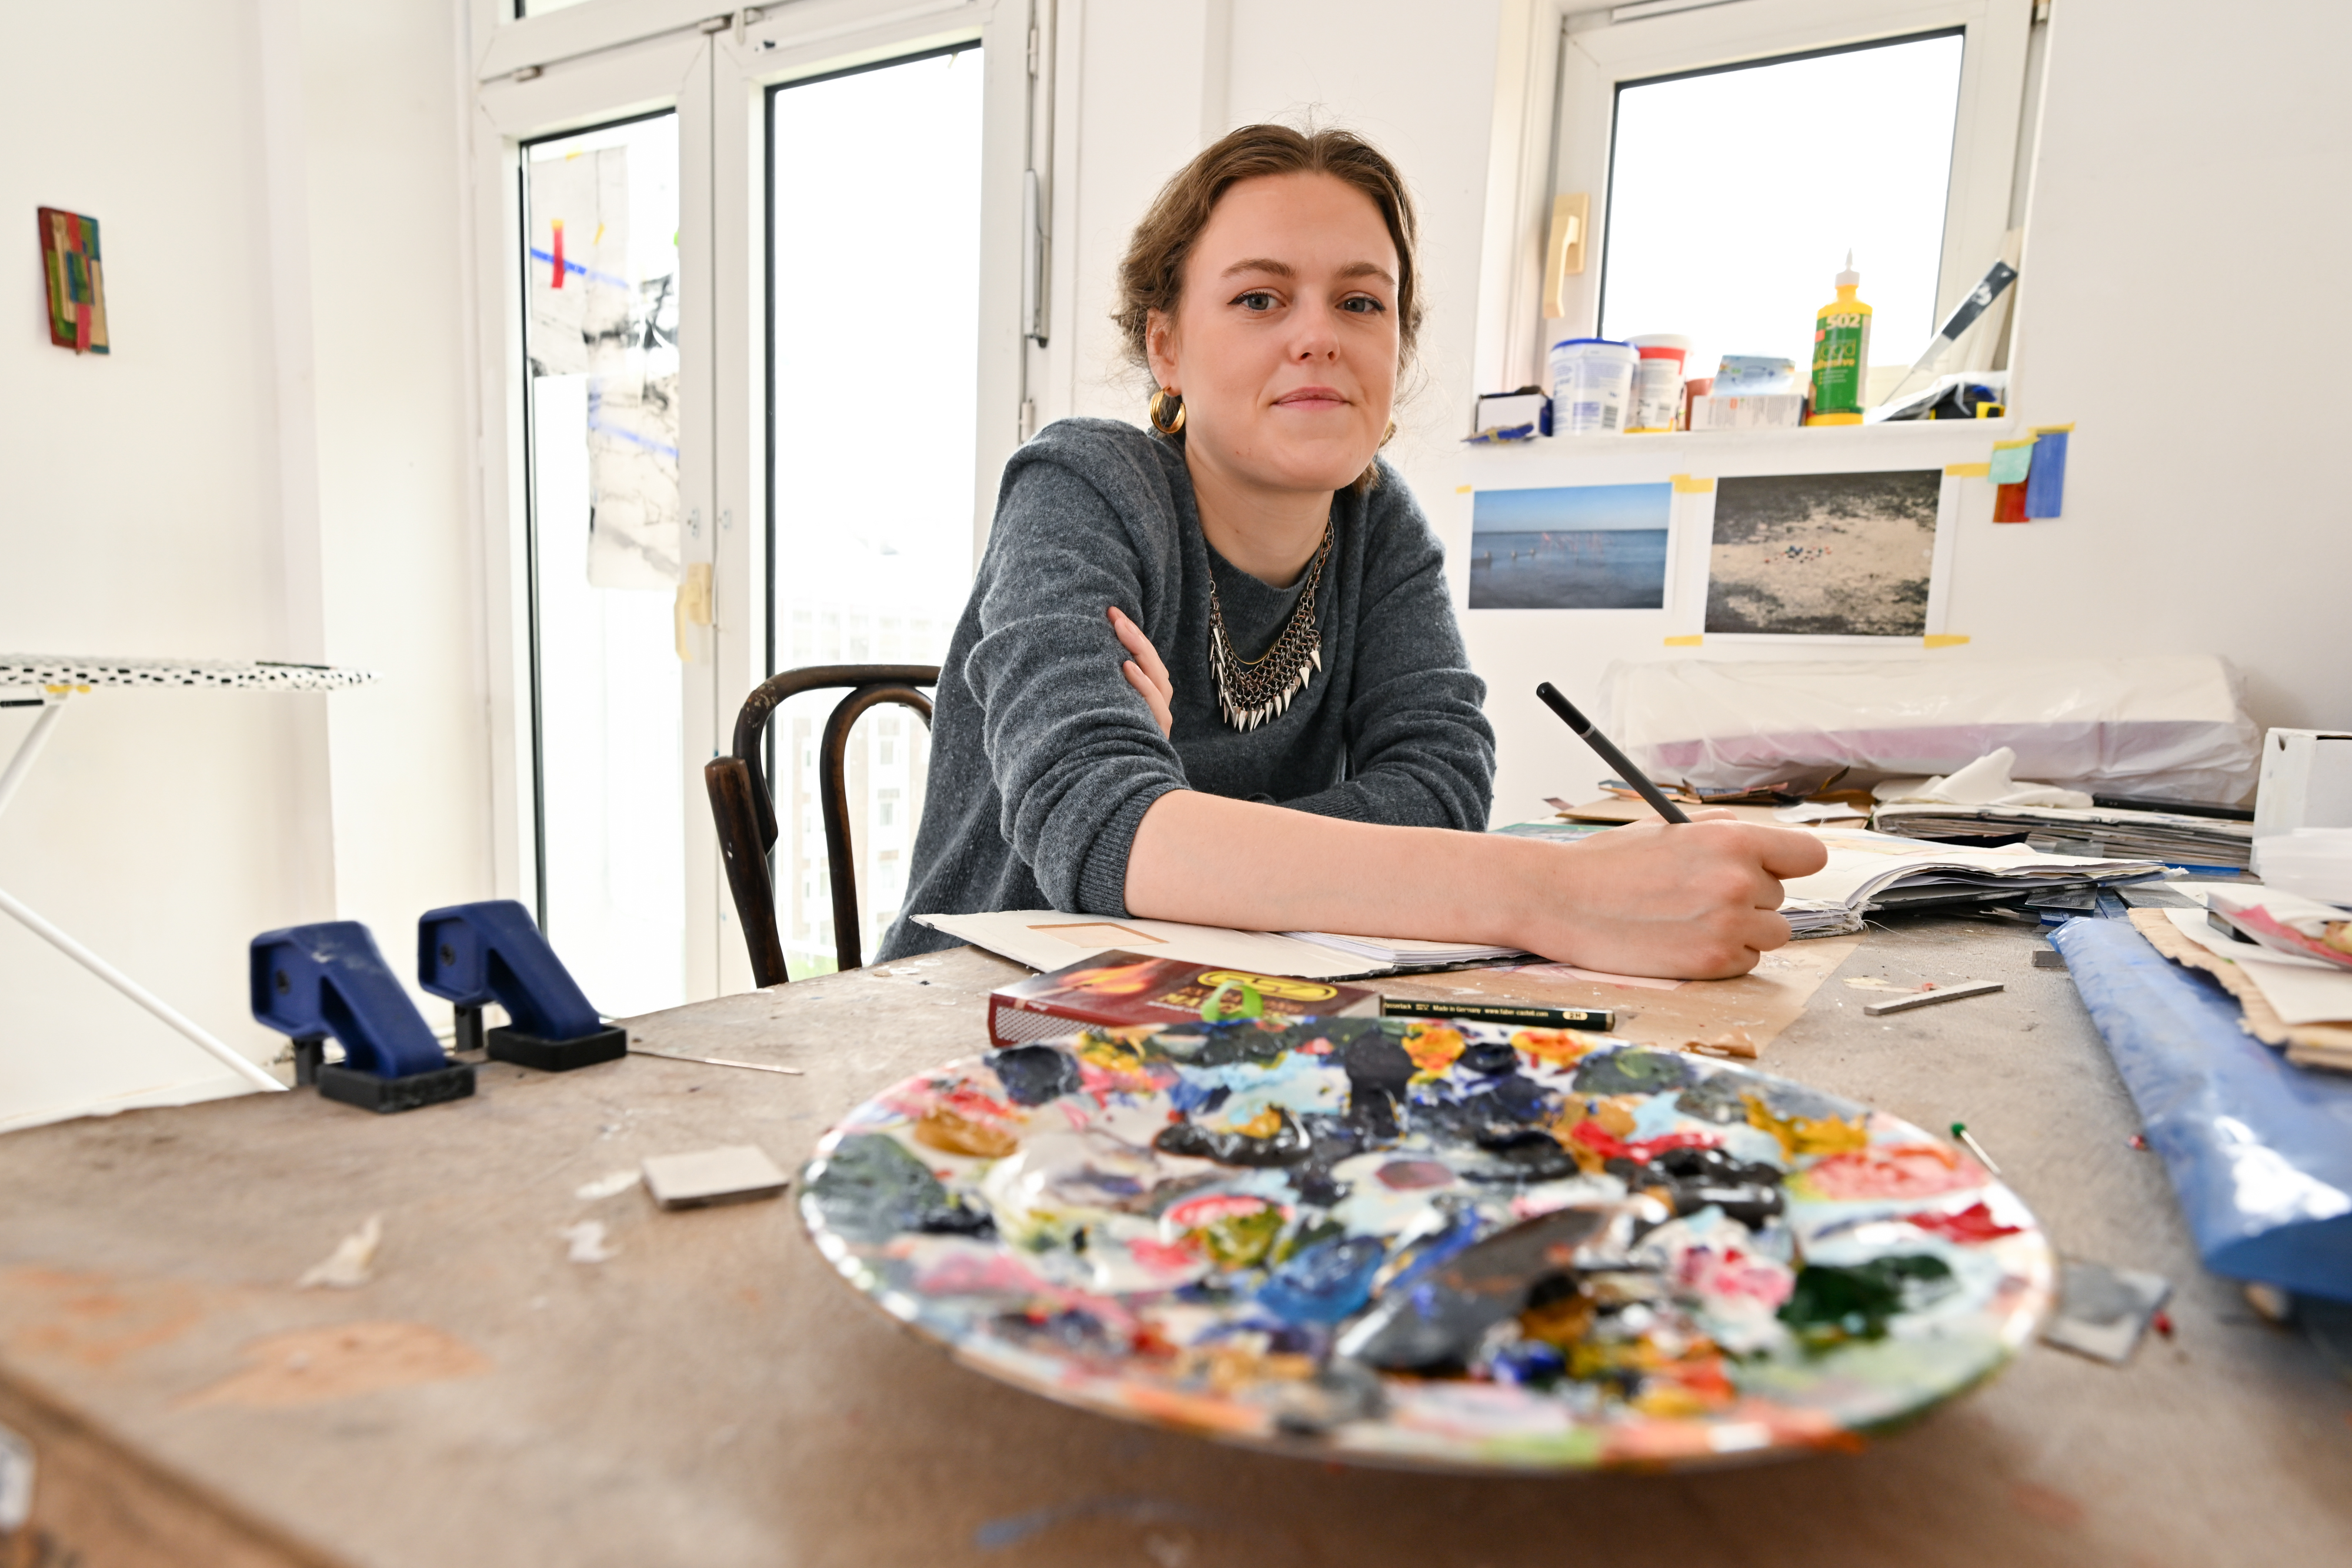
[[[2034,0],[1677,0],[1592,7],[1534,0],[1522,71],[1498,78],[1496,188],[1479,322],[1479,388],[1543,378],[1543,348],[1599,329],[1606,259],[1609,139],[1621,82],[1769,61],[1915,33],[1964,31],[1952,181],[1945,197],[1936,320],[1943,320],[2004,249],[2020,209],[2018,134],[2027,89]],[[1515,125],[1512,125],[1515,120]],[[1823,155],[1832,146],[1811,148]],[[1790,127],[1790,158],[1804,158]],[[1552,195],[1588,193],[1585,270],[1566,277],[1559,317],[1541,315],[1543,244]],[[2011,256],[2016,259],[2016,256]],[[2016,360],[2011,357],[2011,364]],[[2013,390],[2013,388],[2011,388]]]

